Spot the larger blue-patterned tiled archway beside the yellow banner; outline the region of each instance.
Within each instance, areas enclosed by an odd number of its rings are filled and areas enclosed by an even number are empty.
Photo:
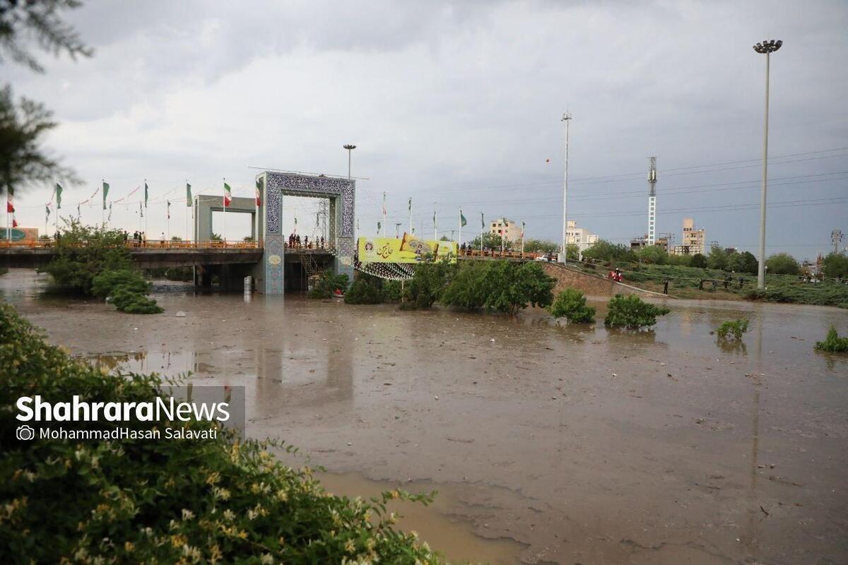
[[[256,289],[265,294],[282,294],[285,241],[282,232],[282,197],[319,197],[329,200],[328,242],[334,250],[333,270],[354,274],[354,196],[356,181],[313,174],[264,171],[256,176],[262,212],[259,241],[265,247],[262,263],[254,270]]]

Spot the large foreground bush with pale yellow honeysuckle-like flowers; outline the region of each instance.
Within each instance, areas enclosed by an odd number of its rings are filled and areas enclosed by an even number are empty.
[[[16,440],[20,396],[155,402],[163,381],[75,360],[5,304],[0,344],[0,562],[440,562],[385,512],[392,498],[428,496],[329,495],[270,441]]]

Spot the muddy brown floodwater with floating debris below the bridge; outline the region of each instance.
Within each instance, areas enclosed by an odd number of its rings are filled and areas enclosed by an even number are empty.
[[[246,387],[248,435],[300,448],[328,490],[438,490],[399,506],[451,559],[848,562],[848,360],[813,351],[848,311],[669,300],[653,332],[301,296],[195,294],[165,313],[0,295],[106,365]],[[603,317],[604,302],[594,302]],[[185,317],[176,317],[178,311]],[[711,330],[750,320],[740,346]]]

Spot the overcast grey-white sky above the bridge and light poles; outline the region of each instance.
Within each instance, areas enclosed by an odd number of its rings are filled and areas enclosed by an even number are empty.
[[[644,234],[656,155],[658,232],[679,242],[691,216],[708,241],[756,251],[765,60],[751,46],[772,37],[767,252],[815,258],[848,233],[844,2],[114,1],[69,19],[93,58],[0,67],[61,123],[48,146],[85,180],[64,213],[103,178],[114,200],[147,178],[148,234],[172,198],[184,235],[186,179],[251,196],[249,167],[347,174],[355,143],[362,234],[386,191],[392,235],[412,197],[419,233],[435,205],[440,235],[461,207],[464,239],[482,212],[559,240],[567,108],[570,219],[616,242]],[[19,224],[43,230],[50,194],[20,191]],[[140,197],[115,203],[112,224],[137,229]],[[294,210],[287,225],[315,223]],[[99,221],[99,206],[82,216]]]

